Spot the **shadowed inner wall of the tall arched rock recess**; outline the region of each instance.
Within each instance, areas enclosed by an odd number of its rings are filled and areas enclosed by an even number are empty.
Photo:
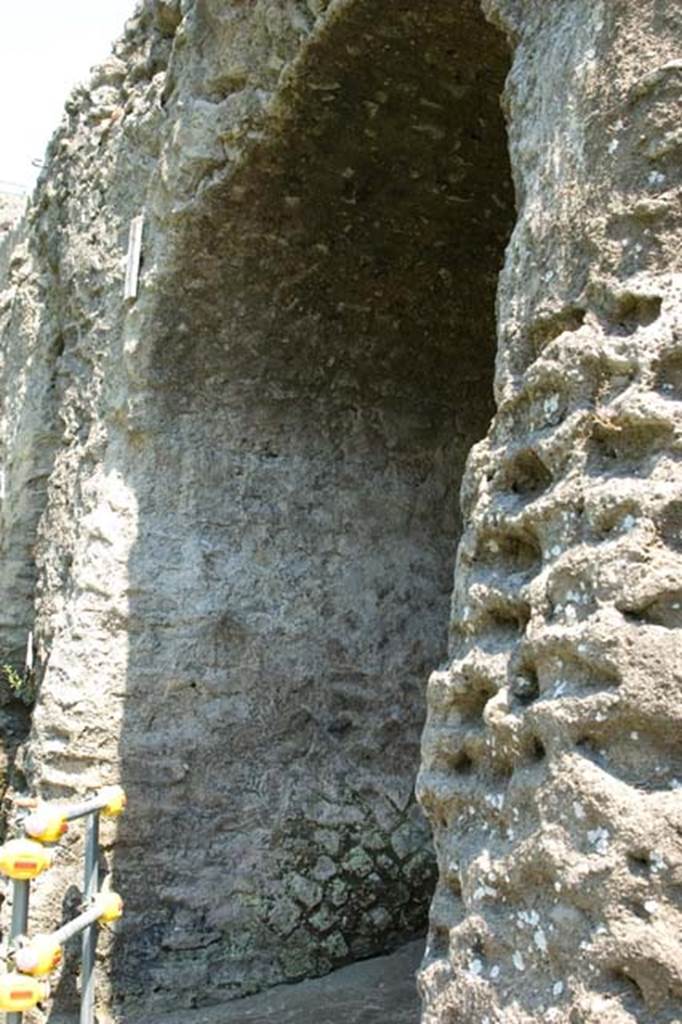
[[[111,443],[139,510],[124,1014],[425,930],[413,784],[459,481],[493,413],[506,71],[474,0],[349,6],[162,281]]]

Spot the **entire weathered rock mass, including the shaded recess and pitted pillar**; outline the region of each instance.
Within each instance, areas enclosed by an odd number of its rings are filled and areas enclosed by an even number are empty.
[[[513,56],[424,1019],[675,1019],[679,15],[484,6],[148,0],[0,250],[10,780],[129,791],[102,1016],[422,927]]]

